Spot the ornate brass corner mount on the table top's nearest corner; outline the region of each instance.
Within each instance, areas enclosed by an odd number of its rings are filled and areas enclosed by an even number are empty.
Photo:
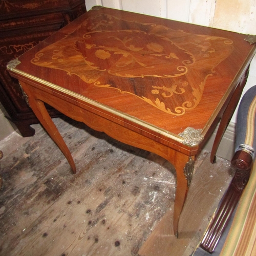
[[[202,129],[196,130],[192,127],[187,127],[184,132],[179,134],[179,136],[184,139],[184,145],[197,146],[204,139],[201,131]]]

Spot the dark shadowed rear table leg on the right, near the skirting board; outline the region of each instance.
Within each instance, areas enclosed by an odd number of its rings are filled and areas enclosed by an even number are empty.
[[[238,102],[240,100],[241,94],[242,94],[244,86],[245,86],[245,83],[247,81],[247,76],[248,76],[248,70],[245,73],[241,82],[238,84],[236,90],[234,91],[234,93],[227,105],[227,108],[225,109],[225,111],[223,113],[223,116],[220,121],[219,129],[217,131],[217,134],[216,134],[216,137],[214,140],[214,144],[212,145],[212,150],[211,150],[211,154],[210,154],[210,162],[211,163],[216,162],[216,153],[217,153],[218,147],[219,147],[221,139],[227,129],[227,126],[231,120],[231,117],[237,108]]]

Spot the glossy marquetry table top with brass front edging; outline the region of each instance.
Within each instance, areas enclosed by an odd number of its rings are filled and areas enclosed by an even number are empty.
[[[245,38],[96,7],[9,69],[182,140],[187,127],[203,137],[233,92],[255,52]]]

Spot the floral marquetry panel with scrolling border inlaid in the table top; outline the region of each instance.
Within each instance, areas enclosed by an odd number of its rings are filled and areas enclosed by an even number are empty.
[[[227,38],[99,13],[39,51],[31,62],[181,116],[196,108],[207,78],[232,51]]]

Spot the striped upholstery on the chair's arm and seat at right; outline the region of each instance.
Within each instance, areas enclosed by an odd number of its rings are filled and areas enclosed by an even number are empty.
[[[253,161],[256,149],[255,112],[256,86],[253,86],[245,93],[239,106],[235,150],[248,149]],[[256,164],[252,168],[220,255],[256,255]]]

